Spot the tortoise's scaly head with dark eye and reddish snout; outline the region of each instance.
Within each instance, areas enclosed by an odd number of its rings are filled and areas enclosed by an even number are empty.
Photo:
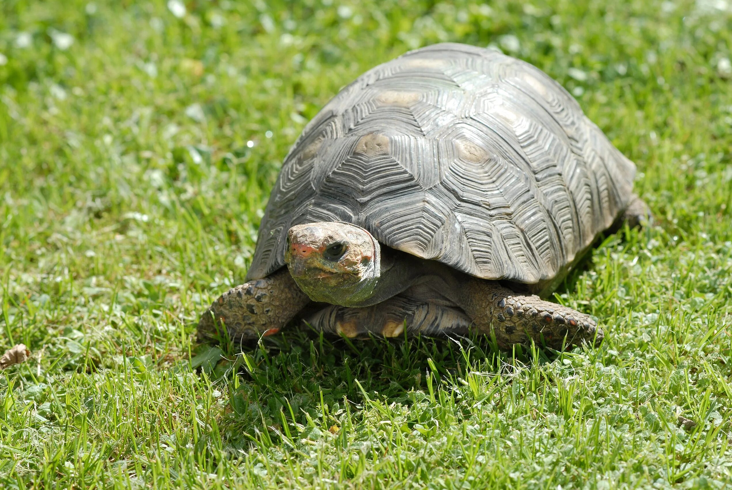
[[[381,248],[360,226],[307,223],[288,231],[285,262],[311,300],[354,306],[374,292],[381,272]]]

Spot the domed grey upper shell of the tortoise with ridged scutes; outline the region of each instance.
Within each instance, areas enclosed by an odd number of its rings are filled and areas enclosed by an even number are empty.
[[[283,267],[291,226],[345,221],[479,278],[550,281],[625,209],[634,176],[537,67],[431,45],[361,75],[305,127],[247,280]]]

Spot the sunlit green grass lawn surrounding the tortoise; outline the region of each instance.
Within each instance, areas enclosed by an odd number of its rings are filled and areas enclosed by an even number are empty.
[[[656,226],[556,296],[605,343],[196,346],[305,122],[444,40],[536,64],[638,164]],[[2,1],[0,349],[33,354],[0,488],[728,488],[731,48],[729,1]]]

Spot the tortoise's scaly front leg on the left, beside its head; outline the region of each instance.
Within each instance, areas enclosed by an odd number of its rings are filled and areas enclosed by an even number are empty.
[[[228,337],[235,341],[272,335],[309,302],[285,267],[222,294],[201,316],[198,338],[215,338],[220,329],[217,323],[223,323]]]

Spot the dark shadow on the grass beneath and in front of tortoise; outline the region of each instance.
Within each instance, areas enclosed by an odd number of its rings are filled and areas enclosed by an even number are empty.
[[[360,412],[367,399],[411,405],[428,390],[430,374],[459,382],[470,371],[506,373],[556,358],[520,346],[501,351],[485,335],[354,340],[305,328],[223,348],[225,360],[204,371],[228,392],[220,433],[232,449],[263,434],[281,437],[291,424],[329,428],[343,411]]]

